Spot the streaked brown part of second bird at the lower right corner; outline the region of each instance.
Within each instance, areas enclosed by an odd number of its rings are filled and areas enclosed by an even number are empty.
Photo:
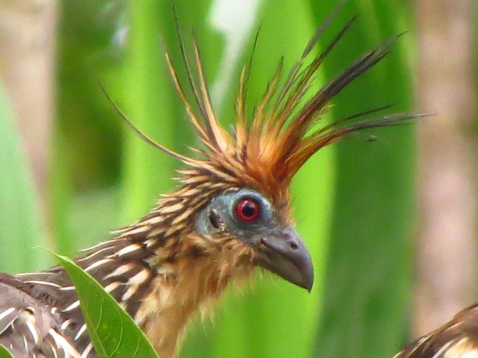
[[[478,304],[465,308],[393,358],[478,358]]]

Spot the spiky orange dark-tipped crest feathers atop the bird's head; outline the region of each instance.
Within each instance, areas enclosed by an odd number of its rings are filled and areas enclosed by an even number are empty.
[[[304,66],[306,57],[315,47],[318,39],[335,17],[340,6],[341,4],[317,29],[301,58],[293,66],[278,92],[283,66],[283,59],[281,59],[276,73],[267,86],[260,105],[254,111],[250,126],[247,125],[245,110],[250,63],[249,67],[243,67],[239,79],[239,95],[236,107],[237,122],[234,136],[231,136],[220,125],[214,113],[196,38],[194,38],[194,54],[199,84],[196,84],[193,80],[174,11],[183,62],[186,67],[191,91],[194,94],[196,105],[201,114],[201,120],[198,119],[186,98],[168,53],[166,53],[166,59],[176,89],[185,103],[189,119],[195,126],[199,138],[207,147],[205,151],[196,150],[206,156],[206,159],[203,160],[186,158],[179,154],[174,155],[187,165],[197,169],[190,171],[189,174],[182,174],[181,180],[186,183],[192,183],[196,179],[200,182],[207,178],[211,183],[219,181],[231,187],[250,186],[274,199],[277,195],[285,194],[297,170],[320,148],[353,131],[370,127],[403,124],[407,120],[416,117],[412,114],[398,114],[352,123],[352,120],[356,118],[390,107],[384,106],[343,118],[315,130],[312,134],[306,135],[311,126],[316,120],[320,119],[320,115],[327,109],[329,101],[351,81],[385,57],[390,52],[391,45],[401,36],[400,34],[383,42],[369,53],[366,53],[358,61],[348,66],[337,78],[324,85],[302,108],[296,111],[299,103],[304,99],[304,95],[311,86],[316,70],[355,21],[355,17],[352,18],[326,49],[319,53],[310,64]],[[256,42],[257,35],[254,47]],[[278,95],[274,97],[277,92]],[[267,110],[267,108],[270,109]],[[297,113],[294,114],[295,112]],[[288,124],[286,125],[286,123]],[[170,151],[168,152],[171,154]]]

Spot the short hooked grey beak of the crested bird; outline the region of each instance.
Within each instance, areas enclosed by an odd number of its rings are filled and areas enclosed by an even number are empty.
[[[312,258],[292,226],[261,236],[256,245],[261,267],[310,292],[314,284]]]

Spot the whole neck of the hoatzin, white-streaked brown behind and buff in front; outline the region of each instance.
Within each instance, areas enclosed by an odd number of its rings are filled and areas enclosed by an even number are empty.
[[[110,294],[160,357],[173,358],[191,318],[211,312],[230,281],[251,276],[251,256],[244,250],[235,241],[213,242],[195,232],[167,237],[143,232],[103,243],[79,263],[94,266],[88,272],[105,288],[114,288]]]

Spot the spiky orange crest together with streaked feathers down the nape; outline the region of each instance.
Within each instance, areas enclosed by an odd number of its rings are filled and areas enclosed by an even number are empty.
[[[185,104],[189,120],[206,149],[191,148],[202,155],[201,159],[173,152],[142,134],[117,108],[121,116],[145,141],[191,167],[187,170],[180,170],[180,176],[176,178],[184,183],[184,187],[160,200],[150,215],[126,228],[123,235],[127,235],[131,230],[139,230],[140,227],[148,231],[152,228],[149,225],[150,222],[157,223],[153,225],[156,229],[155,232],[160,230],[170,234],[176,229],[185,229],[187,220],[198,207],[218,191],[229,188],[254,188],[272,200],[276,208],[287,207],[288,187],[291,179],[305,161],[320,148],[337,141],[350,132],[365,128],[405,124],[410,119],[417,117],[413,114],[403,113],[363,119],[364,116],[379,113],[391,107],[387,105],[339,119],[318,129],[316,126],[316,123],[320,123],[322,114],[328,109],[329,101],[355,78],[380,62],[402,34],[381,43],[349,65],[299,108],[312,85],[317,69],[356,20],[356,17],[353,17],[348,21],[321,53],[316,55],[309,64],[304,64],[344,2],[341,1],[323,24],[318,27],[312,39],[307,43],[299,61],[292,67],[282,87],[279,88],[283,67],[283,59],[280,59],[277,70],[269,82],[259,106],[254,111],[249,126],[245,102],[252,60],[243,67],[236,104],[237,121],[232,135],[220,125],[212,107],[199,46],[193,33],[194,70],[197,80],[194,79],[193,69],[186,57],[174,9],[180,53],[198,113],[187,99],[185,89],[178,79],[168,52],[165,53],[166,61],[177,93]],[[256,33],[254,48],[258,35],[259,32]],[[161,228],[158,229],[157,225],[160,225]]]

